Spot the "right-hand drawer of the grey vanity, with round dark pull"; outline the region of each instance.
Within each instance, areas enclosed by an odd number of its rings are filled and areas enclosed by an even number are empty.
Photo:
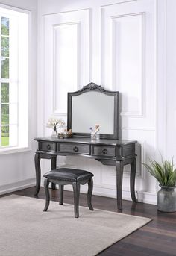
[[[92,146],[92,155],[104,157],[116,157],[115,146]]]

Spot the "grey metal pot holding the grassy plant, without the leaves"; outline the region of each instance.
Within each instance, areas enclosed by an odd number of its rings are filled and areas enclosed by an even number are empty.
[[[157,193],[157,209],[163,212],[176,211],[176,187],[161,186]]]

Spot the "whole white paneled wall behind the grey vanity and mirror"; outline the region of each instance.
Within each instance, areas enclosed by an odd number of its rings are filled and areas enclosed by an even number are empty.
[[[51,134],[45,127],[51,115],[66,120],[67,92],[90,81],[119,90],[120,137],[139,142],[136,196],[151,203],[157,202],[157,184],[142,162],[166,148],[163,132],[158,132],[158,125],[166,121],[160,116],[166,103],[160,101],[165,92],[165,28],[159,26],[164,24],[165,4],[164,0],[38,1],[38,135]],[[163,60],[158,63],[160,52]],[[94,193],[116,196],[114,167],[83,157],[58,157],[57,165],[93,172]],[[43,172],[48,169],[43,160]],[[130,199],[128,167],[123,198]]]

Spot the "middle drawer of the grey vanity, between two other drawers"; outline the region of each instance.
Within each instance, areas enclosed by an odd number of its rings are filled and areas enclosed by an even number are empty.
[[[58,151],[60,153],[73,153],[73,154],[89,154],[89,145],[75,144],[75,143],[59,143]]]

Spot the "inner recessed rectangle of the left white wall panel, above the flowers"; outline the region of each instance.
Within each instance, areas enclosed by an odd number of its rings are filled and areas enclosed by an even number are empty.
[[[67,113],[67,92],[78,83],[79,23],[54,25],[54,114]]]

